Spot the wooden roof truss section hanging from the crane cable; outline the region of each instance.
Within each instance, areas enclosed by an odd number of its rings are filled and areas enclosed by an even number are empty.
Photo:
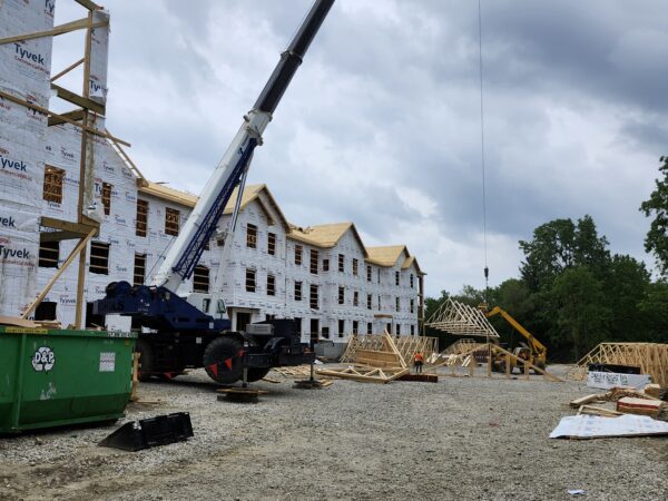
[[[499,337],[484,313],[451,298],[434,312],[424,326],[453,335]]]

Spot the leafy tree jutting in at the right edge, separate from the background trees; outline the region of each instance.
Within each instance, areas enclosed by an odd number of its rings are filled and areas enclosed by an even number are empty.
[[[640,204],[645,217],[654,217],[645,238],[645,250],[655,255],[657,266],[668,276],[668,156],[661,157],[661,177],[655,180],[655,190]]]

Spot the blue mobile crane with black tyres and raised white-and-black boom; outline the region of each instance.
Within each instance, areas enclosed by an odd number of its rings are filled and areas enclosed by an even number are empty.
[[[224,384],[257,381],[271,367],[313,363],[315,354],[301,342],[294,320],[250,324],[232,332],[222,297],[225,263],[232,247],[246,174],[255,148],[334,0],[316,0],[257,98],[223,159],[205,185],[195,208],[170,246],[150,285],[112,282],[94,303],[96,315],[124,315],[139,330],[140,377],[179,374],[205,367]],[[217,230],[225,206],[238,188],[236,205],[210,294],[184,291],[207,243]],[[181,297],[187,295],[187,297]]]

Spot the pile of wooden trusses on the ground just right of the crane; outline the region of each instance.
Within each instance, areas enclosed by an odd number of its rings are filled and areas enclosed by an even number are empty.
[[[371,350],[357,345],[352,365],[343,369],[316,370],[318,375],[380,384],[400,379],[410,372],[394,340],[386,332],[382,336],[382,346],[377,348]]]

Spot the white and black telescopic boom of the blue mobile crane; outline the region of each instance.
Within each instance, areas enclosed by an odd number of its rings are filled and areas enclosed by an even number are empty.
[[[281,55],[281,60],[206,183],[195,208],[169,248],[151,285],[176,292],[193,274],[206,244],[216,230],[225,206],[234,189],[239,186],[244,171],[247,170],[253,150],[262,145],[262,135],[272,120],[272,114],[333,3],[334,0],[316,0],[292,42]],[[240,195],[239,193],[238,196]],[[225,245],[228,245],[229,240],[229,237],[226,238]],[[220,266],[224,266],[223,259]],[[218,271],[218,274],[220,273],[222,269]]]

